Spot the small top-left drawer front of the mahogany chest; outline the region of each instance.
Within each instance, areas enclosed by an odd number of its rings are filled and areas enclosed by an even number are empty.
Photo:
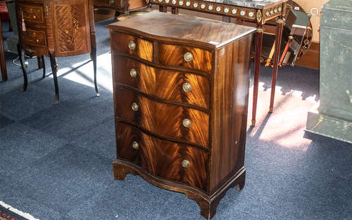
[[[127,53],[143,60],[153,62],[153,42],[130,34],[113,32],[112,51]]]

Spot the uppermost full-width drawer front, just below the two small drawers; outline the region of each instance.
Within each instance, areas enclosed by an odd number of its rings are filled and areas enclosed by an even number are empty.
[[[151,96],[209,108],[210,84],[206,77],[144,65],[124,56],[114,56],[116,82]]]

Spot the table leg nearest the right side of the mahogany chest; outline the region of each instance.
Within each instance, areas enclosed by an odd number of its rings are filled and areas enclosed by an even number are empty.
[[[252,105],[252,125],[256,125],[257,102],[258,102],[258,87],[259,87],[259,72],[260,58],[262,54],[263,43],[263,26],[257,28],[256,34],[256,56],[254,63],[254,82],[253,82],[253,105]]]

